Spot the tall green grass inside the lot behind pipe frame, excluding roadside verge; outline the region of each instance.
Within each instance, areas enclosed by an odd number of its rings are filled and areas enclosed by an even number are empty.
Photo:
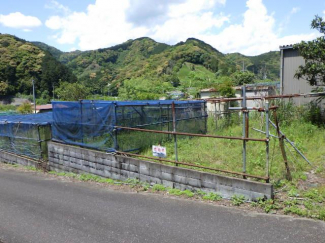
[[[294,145],[312,162],[311,167],[296,151],[285,142],[286,153],[289,160],[293,178],[303,177],[304,171],[312,168],[316,171],[324,170],[325,161],[325,128],[317,126],[302,117],[301,108],[288,110],[292,114],[283,114],[279,110],[280,129],[294,142]],[[305,111],[308,112],[308,111]],[[287,116],[288,115],[288,116]],[[227,120],[228,119],[228,120]],[[229,121],[230,119],[230,121]],[[271,119],[273,119],[271,115]],[[228,124],[228,125],[227,125]],[[265,135],[254,131],[252,128],[265,131],[265,119],[263,113],[250,114],[249,137],[265,138]],[[276,130],[270,126],[270,132],[276,135]],[[223,136],[242,136],[241,117],[233,114],[219,120],[208,119],[208,134]],[[178,136],[181,138],[182,136]],[[215,138],[183,138],[178,139],[178,159],[196,165],[212,168],[242,171],[243,142],[238,140],[226,140]],[[167,147],[167,159],[175,159],[174,142],[166,141],[162,146]],[[151,155],[151,148],[143,154]],[[247,165],[249,174],[264,176],[266,174],[266,144],[265,142],[247,142]],[[272,179],[285,177],[285,167],[277,138],[270,138],[270,176]]]

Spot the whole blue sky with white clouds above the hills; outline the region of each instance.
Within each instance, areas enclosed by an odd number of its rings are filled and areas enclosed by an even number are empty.
[[[0,0],[0,33],[61,51],[94,50],[150,37],[197,38],[222,53],[258,55],[319,36],[323,0]]]

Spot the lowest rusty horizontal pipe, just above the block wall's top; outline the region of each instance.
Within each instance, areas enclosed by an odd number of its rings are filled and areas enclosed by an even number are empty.
[[[146,159],[153,159],[153,160],[158,160],[158,161],[163,161],[163,162],[169,162],[169,163],[174,163],[174,164],[192,166],[192,167],[206,169],[206,170],[213,170],[213,171],[223,172],[223,173],[227,173],[227,174],[233,174],[233,175],[239,175],[239,176],[246,176],[246,177],[255,178],[255,179],[259,179],[259,180],[265,180],[266,182],[269,181],[269,178],[263,177],[263,176],[256,176],[256,175],[250,175],[250,174],[236,172],[236,171],[216,169],[216,168],[206,167],[206,166],[203,166],[203,165],[195,165],[195,164],[190,164],[190,163],[185,163],[185,162],[179,162],[179,161],[175,161],[175,160],[155,158],[155,157],[150,157],[150,156],[145,156],[145,155],[140,155],[140,154],[127,153],[127,152],[122,152],[122,151],[116,151],[116,152],[117,152],[117,154],[121,154],[121,155],[124,154],[124,155],[128,155],[128,156],[135,156],[135,157],[141,157],[141,158],[146,158]]]

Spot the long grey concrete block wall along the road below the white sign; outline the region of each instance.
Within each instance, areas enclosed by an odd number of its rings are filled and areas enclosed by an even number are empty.
[[[269,183],[168,166],[54,142],[48,143],[48,151],[50,170],[91,173],[117,180],[136,178],[181,190],[217,192],[225,198],[235,194],[244,195],[249,200],[273,197],[273,186]]]

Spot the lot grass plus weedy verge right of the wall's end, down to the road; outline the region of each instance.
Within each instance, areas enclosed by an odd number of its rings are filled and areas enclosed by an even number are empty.
[[[294,111],[279,114],[281,131],[294,142],[295,146],[312,163],[309,165],[295,150],[285,142],[286,153],[293,180],[285,179],[285,167],[277,138],[270,139],[270,176],[275,187],[274,200],[258,200],[252,203],[265,212],[281,211],[311,218],[325,219],[325,128],[306,121],[305,111]],[[272,117],[271,117],[272,118]],[[242,126],[239,117],[233,117],[233,124],[225,126],[225,119],[208,120],[208,133],[225,136],[241,136]],[[264,134],[252,128],[265,131],[265,121],[259,114],[251,114],[249,136],[263,138]],[[216,129],[217,128],[217,129]],[[271,134],[276,135],[273,127]],[[167,147],[167,159],[175,159],[174,143],[162,143]],[[143,154],[150,156],[151,150]],[[242,171],[242,141],[214,138],[184,138],[178,140],[179,161]],[[247,143],[247,173],[265,175],[265,143]]]

